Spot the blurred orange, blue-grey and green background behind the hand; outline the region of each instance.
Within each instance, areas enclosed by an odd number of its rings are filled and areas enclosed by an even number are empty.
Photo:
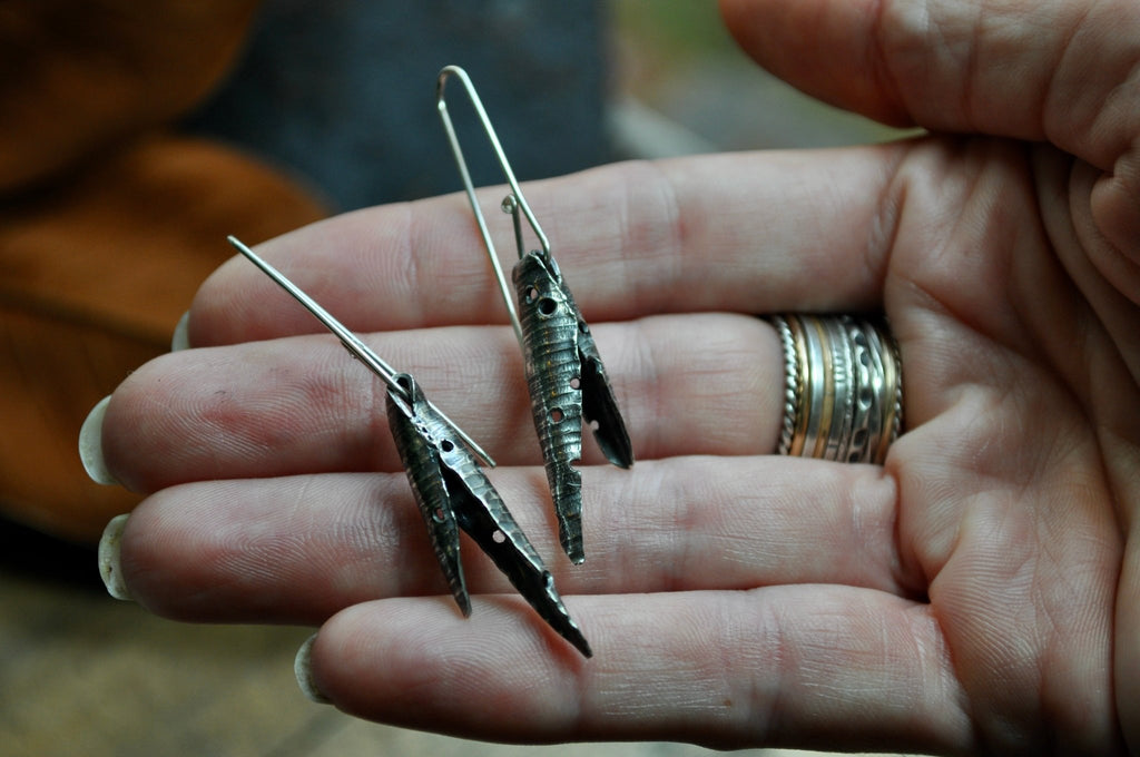
[[[310,705],[292,671],[310,629],[187,626],[105,594],[92,545],[136,498],[87,479],[79,426],[169,348],[226,234],[458,190],[443,65],[471,73],[521,179],[897,132],[765,74],[707,0],[141,8],[0,10],[0,755],[706,754],[473,744]],[[477,184],[499,182],[461,136]]]

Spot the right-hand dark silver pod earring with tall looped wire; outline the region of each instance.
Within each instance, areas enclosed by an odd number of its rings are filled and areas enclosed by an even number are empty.
[[[510,287],[503,276],[495,244],[479,207],[471,173],[443,99],[447,80],[453,75],[466,89],[511,186],[512,194],[503,202],[503,210],[511,213],[514,221],[519,249],[519,262],[512,275],[518,309],[512,302]],[[546,479],[559,520],[559,539],[570,560],[580,563],[586,559],[581,534],[581,474],[575,464],[581,458],[583,421],[593,429],[602,454],[619,467],[630,467],[634,464],[633,445],[589,326],[562,278],[551,254],[549,242],[527,204],[482,101],[463,68],[448,66],[440,72],[435,100],[471,209],[503,292],[503,300],[511,315],[511,324],[522,348],[535,429],[546,461]],[[521,217],[526,217],[538,237],[539,250],[526,251]]]

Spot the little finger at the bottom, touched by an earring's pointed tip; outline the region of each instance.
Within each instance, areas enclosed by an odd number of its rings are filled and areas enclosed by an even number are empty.
[[[971,732],[937,620],[868,589],[781,586],[571,597],[581,660],[512,597],[356,605],[312,646],[341,709],[507,741],[961,752]]]

